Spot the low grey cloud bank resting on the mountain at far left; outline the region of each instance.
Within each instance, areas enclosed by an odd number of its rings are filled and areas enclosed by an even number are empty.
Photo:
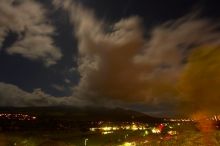
[[[83,104],[74,97],[53,97],[41,89],[34,89],[29,93],[15,85],[0,82],[0,106],[82,106]]]

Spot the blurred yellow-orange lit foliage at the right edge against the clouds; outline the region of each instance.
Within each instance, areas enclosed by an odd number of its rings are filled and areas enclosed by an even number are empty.
[[[220,47],[192,51],[179,83],[184,109],[219,112]]]

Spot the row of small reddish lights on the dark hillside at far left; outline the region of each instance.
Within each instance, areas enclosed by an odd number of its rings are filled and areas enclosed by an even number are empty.
[[[19,120],[19,121],[25,121],[25,120],[36,120],[35,116],[30,116],[27,114],[10,114],[10,113],[1,113],[0,119],[4,120]]]

